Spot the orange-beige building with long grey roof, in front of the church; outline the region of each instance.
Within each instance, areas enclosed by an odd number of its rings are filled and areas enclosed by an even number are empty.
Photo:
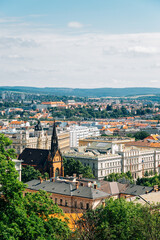
[[[100,206],[110,194],[97,189],[95,180],[81,182],[76,177],[56,179],[54,181],[32,180],[27,182],[26,192],[36,192],[40,189],[51,194],[53,201],[65,213],[79,213]]]

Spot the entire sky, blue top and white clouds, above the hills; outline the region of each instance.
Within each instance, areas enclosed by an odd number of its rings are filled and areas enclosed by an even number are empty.
[[[0,0],[0,86],[160,87],[160,1]]]

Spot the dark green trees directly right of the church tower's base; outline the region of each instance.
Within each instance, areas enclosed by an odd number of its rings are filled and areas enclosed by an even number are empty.
[[[92,170],[90,166],[84,166],[79,160],[71,159],[63,159],[64,165],[64,175],[72,176],[74,173],[79,176],[79,174],[83,174],[83,177],[86,178],[94,178]]]

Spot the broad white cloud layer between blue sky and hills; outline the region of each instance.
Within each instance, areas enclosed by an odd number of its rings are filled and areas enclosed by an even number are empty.
[[[0,31],[0,85],[160,87],[159,42],[160,33],[72,35],[6,24]]]

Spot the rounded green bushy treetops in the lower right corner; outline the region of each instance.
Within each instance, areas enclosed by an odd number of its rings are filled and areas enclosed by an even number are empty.
[[[124,199],[109,199],[106,207],[89,210],[79,221],[76,239],[159,240],[159,208],[152,210]]]

